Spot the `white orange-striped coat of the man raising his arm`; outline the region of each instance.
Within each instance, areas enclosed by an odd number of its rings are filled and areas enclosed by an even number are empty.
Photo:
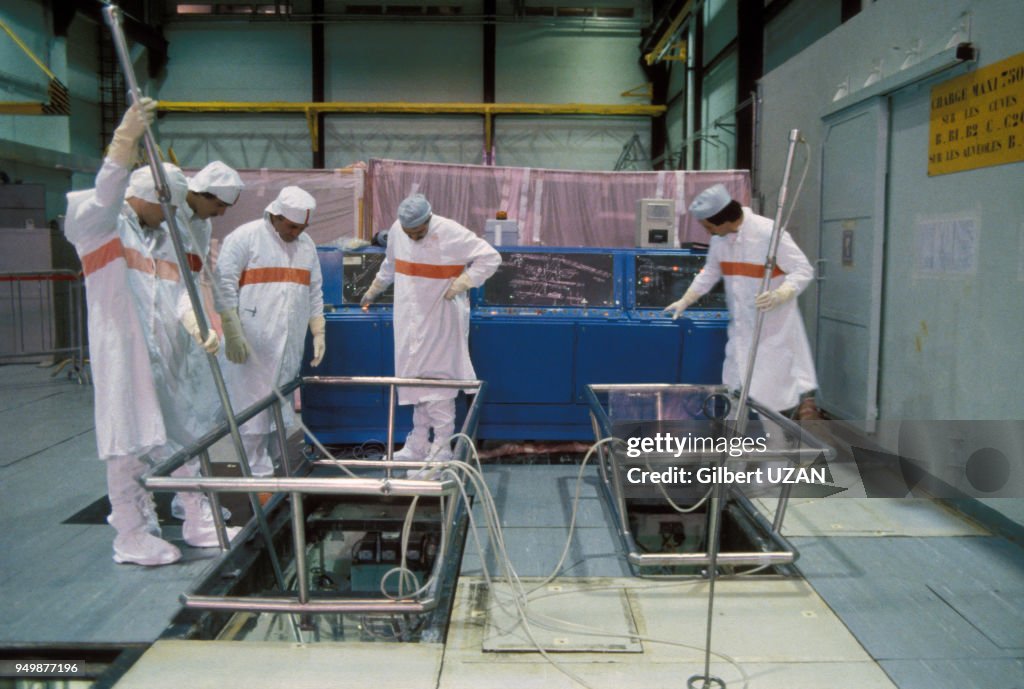
[[[96,187],[68,195],[65,234],[85,273],[89,361],[100,459],[140,456],[167,442],[139,305],[152,302],[158,266],[138,217],[124,203],[129,171],[110,159]],[[141,288],[141,292],[139,289]]]

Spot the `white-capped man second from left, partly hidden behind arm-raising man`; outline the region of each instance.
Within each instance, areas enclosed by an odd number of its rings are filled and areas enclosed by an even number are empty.
[[[211,218],[222,216],[233,206],[244,186],[237,171],[220,161],[214,161],[188,179],[185,203],[178,207],[177,223],[182,247],[197,292],[204,304],[208,302],[201,286],[209,286],[213,274]],[[160,251],[167,254],[165,258],[174,262],[176,258],[173,249],[168,242]],[[176,355],[168,359],[173,362],[174,369],[168,372],[167,384],[159,389],[163,391],[163,401],[166,401],[163,406],[168,434],[176,441],[175,444],[184,446],[194,444],[225,419],[206,355],[207,352],[217,353],[219,340],[209,314],[206,314],[209,327],[206,340],[201,337],[199,321],[183,283],[163,282],[161,285],[161,301],[177,304],[176,317],[183,330],[173,328],[167,334]],[[169,318],[167,322],[170,322]],[[186,333],[193,336],[195,344],[189,342]],[[188,493],[175,494],[171,503],[171,514],[174,517],[184,520],[184,502],[188,499]],[[208,503],[205,496],[201,500]],[[208,508],[204,506],[203,509]],[[230,519],[231,513],[226,508],[221,508],[221,511],[224,519]]]

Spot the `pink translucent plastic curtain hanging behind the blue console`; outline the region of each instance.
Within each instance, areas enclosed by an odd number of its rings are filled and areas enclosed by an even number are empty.
[[[316,199],[306,231],[317,245],[371,239],[391,226],[398,203],[417,191],[430,200],[435,213],[480,234],[488,218],[505,211],[519,223],[520,244],[548,247],[635,246],[639,199],[675,200],[679,242],[707,243],[708,232],[686,212],[693,197],[721,182],[744,206],[751,199],[745,170],[589,172],[373,159],[368,168],[240,174],[246,187],[224,216],[214,218],[215,239],[262,217],[289,185]]]

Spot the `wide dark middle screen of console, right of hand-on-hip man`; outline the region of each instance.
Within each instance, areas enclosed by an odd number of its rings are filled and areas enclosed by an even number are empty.
[[[607,307],[615,303],[611,254],[502,252],[484,283],[485,306]]]

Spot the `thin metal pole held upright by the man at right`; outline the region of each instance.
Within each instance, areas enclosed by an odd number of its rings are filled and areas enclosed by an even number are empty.
[[[793,129],[790,131],[790,150],[785,157],[785,170],[782,172],[782,185],[778,190],[778,209],[775,211],[775,224],[772,227],[771,240],[768,243],[768,255],[765,257],[765,272],[761,278],[761,290],[764,292],[771,285],[772,272],[775,270],[775,255],[778,253],[778,243],[782,239],[783,206],[790,183],[790,171],[793,169],[793,157],[800,141],[800,131]],[[743,379],[743,387],[739,391],[739,402],[736,404],[736,418],[731,429],[731,437],[739,437],[746,432],[746,404],[751,379],[754,376],[754,362],[757,358],[758,344],[761,339],[761,326],[764,322],[764,311],[758,310],[757,320],[754,325],[754,338],[751,341],[751,349],[746,357],[746,374]],[[727,427],[727,431],[728,431]],[[727,456],[719,462],[719,466],[724,466]],[[720,687],[725,689],[725,682],[718,677],[711,675],[711,633],[712,622],[715,612],[715,579],[718,574],[718,553],[722,532],[722,508],[725,503],[725,490],[721,482],[716,482],[712,488],[711,504],[709,506],[708,522],[708,620],[707,634],[705,636],[705,672],[703,675],[694,675],[686,681],[689,689],[711,689]],[[700,682],[698,685],[697,682]]]

